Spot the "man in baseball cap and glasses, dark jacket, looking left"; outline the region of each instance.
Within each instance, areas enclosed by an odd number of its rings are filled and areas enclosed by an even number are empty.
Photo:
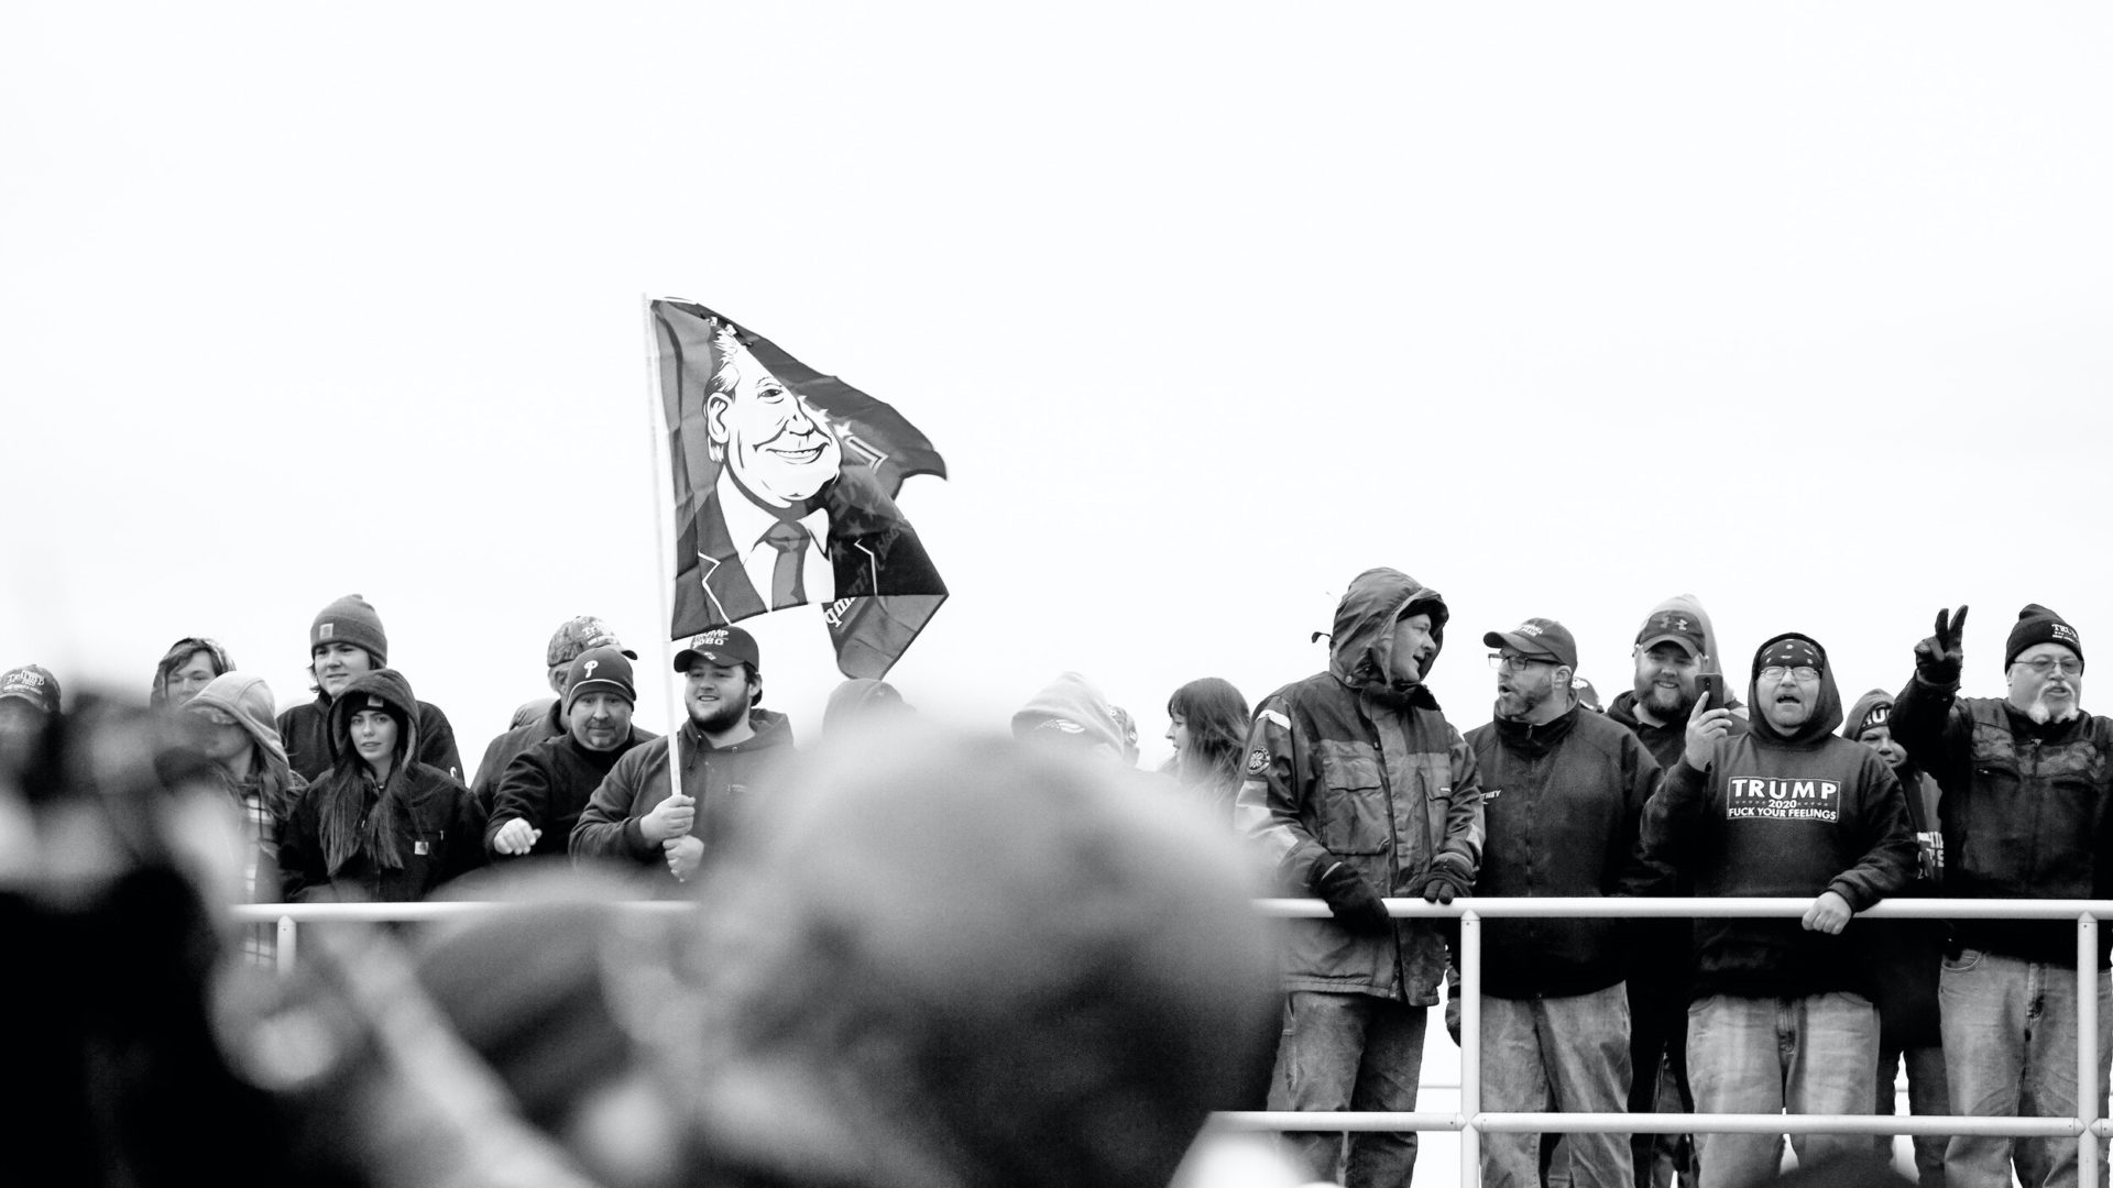
[[[1555,619],[1490,632],[1494,721],[1466,734],[1483,786],[1477,896],[1642,894],[1638,850],[1659,763],[1572,693],[1578,647]],[[1483,1110],[1621,1114],[1629,1095],[1627,945],[1621,920],[1483,924]],[[1540,1184],[1540,1135],[1483,1137],[1488,1188]],[[1631,1188],[1629,1135],[1566,1135],[1574,1188]],[[1551,1167],[1551,1173],[1562,1173]]]

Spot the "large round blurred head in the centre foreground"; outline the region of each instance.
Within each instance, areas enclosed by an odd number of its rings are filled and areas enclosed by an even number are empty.
[[[824,746],[702,888],[697,1141],[729,1182],[1162,1186],[1272,1010],[1221,831],[1061,750]]]

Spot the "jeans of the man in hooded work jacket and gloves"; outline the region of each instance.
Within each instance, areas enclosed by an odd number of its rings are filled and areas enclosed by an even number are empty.
[[[1426,1019],[1428,1006],[1293,989],[1276,1042],[1270,1110],[1416,1110]],[[1348,1188],[1407,1188],[1416,1171],[1416,1131],[1352,1133],[1346,1171],[1340,1171],[1342,1133],[1287,1133],[1285,1146],[1312,1180]]]

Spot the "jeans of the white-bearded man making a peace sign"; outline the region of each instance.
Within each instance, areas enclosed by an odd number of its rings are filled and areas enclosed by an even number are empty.
[[[2113,1055],[2113,983],[2098,970],[2098,1114],[2107,1108],[2107,1057]],[[1938,977],[1944,1013],[1944,1078],[1952,1110],[1978,1118],[2077,1112],[2077,968],[2026,962],[1984,949],[1944,958]],[[2018,1150],[2012,1150],[2018,1144]],[[2098,1184],[2107,1182],[2107,1144],[2098,1139]],[[2012,1156],[2024,1188],[2075,1188],[2075,1139],[1955,1135],[1944,1148],[1952,1188],[2005,1188]]]

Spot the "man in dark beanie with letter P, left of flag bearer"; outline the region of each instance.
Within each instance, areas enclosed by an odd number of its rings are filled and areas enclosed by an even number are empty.
[[[566,734],[522,750],[497,780],[484,850],[494,858],[564,856],[579,812],[617,761],[659,738],[632,727],[632,662],[617,647],[594,647],[568,666],[564,681]]]

